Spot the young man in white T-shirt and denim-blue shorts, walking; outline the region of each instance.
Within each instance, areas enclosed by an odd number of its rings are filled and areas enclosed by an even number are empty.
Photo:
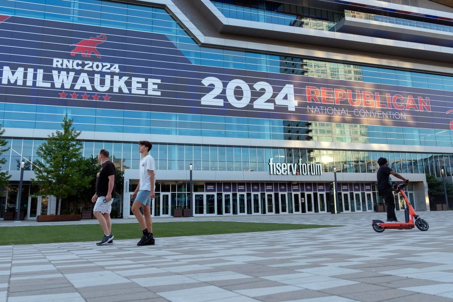
[[[143,230],[143,236],[137,243],[138,246],[155,244],[153,221],[151,219],[151,199],[156,198],[156,193],[154,192],[156,187],[156,164],[154,158],[149,155],[152,147],[153,145],[147,140],[138,142],[138,152],[141,154],[140,180],[132,194],[132,198],[135,198],[132,204],[132,213],[134,213],[141,230]],[[140,213],[140,207],[143,209],[144,217]]]

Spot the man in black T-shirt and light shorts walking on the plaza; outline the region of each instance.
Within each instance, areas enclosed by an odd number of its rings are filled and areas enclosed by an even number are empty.
[[[104,231],[104,238],[97,245],[111,245],[113,244],[113,235],[110,211],[113,203],[112,194],[115,192],[116,169],[113,163],[109,161],[109,152],[107,150],[102,149],[99,151],[98,160],[101,163],[101,169],[96,174],[96,193],[91,198],[91,201],[96,202],[93,214]]]

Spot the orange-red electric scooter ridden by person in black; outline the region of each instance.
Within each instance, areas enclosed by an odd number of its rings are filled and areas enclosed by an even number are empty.
[[[411,203],[407,199],[406,194],[404,194],[403,188],[406,185],[400,184],[397,186],[397,190],[400,192],[401,196],[404,197],[404,201],[406,202],[406,205],[407,205],[406,209],[404,209],[406,222],[384,222],[382,220],[372,220],[371,225],[373,226],[374,231],[376,231],[378,233],[382,233],[386,229],[410,230],[410,229],[414,229],[414,226],[417,226],[417,229],[419,229],[420,231],[428,231],[428,229],[429,229],[428,222],[426,222],[425,220],[420,218],[419,215],[417,215],[417,213],[415,212]]]

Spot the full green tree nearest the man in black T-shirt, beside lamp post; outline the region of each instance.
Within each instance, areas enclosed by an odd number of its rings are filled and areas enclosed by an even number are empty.
[[[56,131],[37,148],[36,155],[43,162],[37,163],[35,169],[36,180],[45,195],[53,195],[58,200],[57,214],[60,214],[61,200],[82,188],[86,188],[92,180],[92,175],[84,171],[82,157],[83,144],[77,138],[80,131],[72,127],[72,119],[67,114],[63,118],[61,128]]]

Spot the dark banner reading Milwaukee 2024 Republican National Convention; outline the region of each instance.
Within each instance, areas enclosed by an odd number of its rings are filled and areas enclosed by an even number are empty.
[[[0,45],[0,102],[453,129],[453,92],[195,65],[164,34],[0,15]]]

